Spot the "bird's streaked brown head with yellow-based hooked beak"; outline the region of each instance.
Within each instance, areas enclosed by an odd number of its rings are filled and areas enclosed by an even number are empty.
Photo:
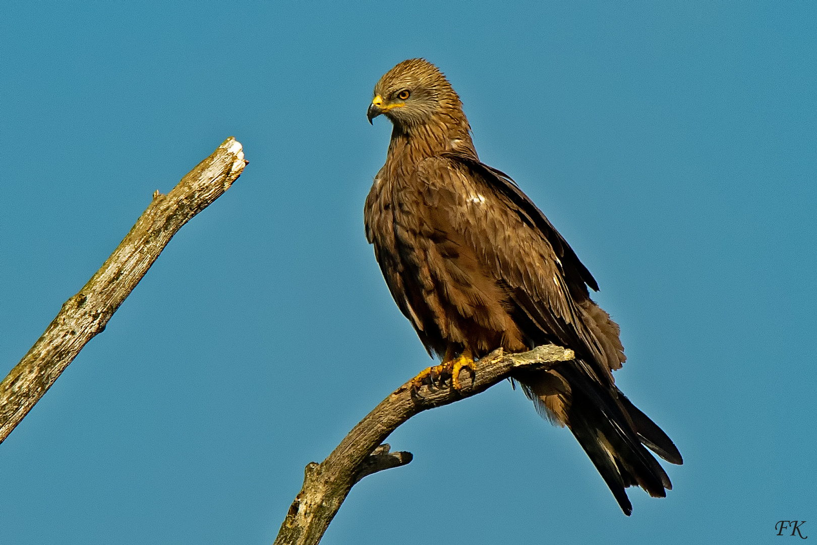
[[[409,59],[380,78],[366,116],[372,123],[383,114],[396,128],[408,130],[444,113],[462,116],[459,96],[435,65],[425,59]]]

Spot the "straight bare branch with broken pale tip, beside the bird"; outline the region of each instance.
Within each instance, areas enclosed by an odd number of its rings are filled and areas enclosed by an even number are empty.
[[[153,265],[176,231],[218,199],[247,161],[230,137],[173,190],[153,195],[131,231],[100,270],[62,306],[29,353],[0,382],[0,443],[105,324]]]

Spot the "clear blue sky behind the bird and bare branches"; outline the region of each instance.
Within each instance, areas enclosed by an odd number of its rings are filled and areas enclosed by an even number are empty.
[[[324,543],[817,538],[814,2],[0,7],[0,366],[227,136],[250,161],[0,445],[0,543],[270,543],[303,467],[429,364],[365,242],[425,56],[592,270],[685,465],[632,517],[504,382],[391,436]]]

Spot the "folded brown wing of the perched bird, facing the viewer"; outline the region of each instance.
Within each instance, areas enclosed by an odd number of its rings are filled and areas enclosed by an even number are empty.
[[[589,299],[595,279],[536,205],[508,176],[467,156],[425,159],[417,178],[427,221],[462,235],[545,336],[612,384],[610,370],[623,362],[618,326]]]

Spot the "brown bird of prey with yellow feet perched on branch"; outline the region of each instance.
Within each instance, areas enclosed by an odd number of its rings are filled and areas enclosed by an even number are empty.
[[[598,290],[565,239],[516,183],[481,163],[462,102],[440,70],[404,60],[374,87],[369,123],[391,120],[386,164],[364,208],[397,306],[442,364],[415,378],[450,375],[502,347],[553,343],[576,359],[516,376],[539,413],[567,426],[625,514],[624,489],[666,496],[667,473],[645,449],[676,464],[667,434],[615,386],[625,357],[618,324],[590,298]]]

